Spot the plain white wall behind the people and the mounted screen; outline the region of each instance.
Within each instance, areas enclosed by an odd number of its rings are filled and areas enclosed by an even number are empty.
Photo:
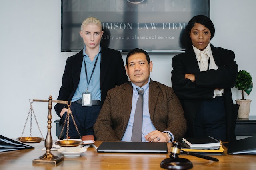
[[[20,137],[28,111],[29,99],[53,100],[58,97],[62,74],[71,52],[60,52],[60,0],[1,0],[0,2],[0,134]],[[256,32],[254,0],[211,0],[210,17],[216,27],[211,43],[231,49],[236,54],[239,70],[247,70],[256,84],[254,57]],[[153,61],[151,78],[171,86],[171,59],[175,53],[150,53]],[[124,60],[126,54],[123,54]],[[232,89],[233,100],[240,92]],[[256,90],[250,115],[256,115]],[[53,103],[53,106],[55,104]],[[47,134],[47,102],[34,102],[40,129]],[[56,138],[58,119],[52,109],[52,137]],[[32,136],[40,133],[32,119]],[[30,119],[23,136],[30,135]]]

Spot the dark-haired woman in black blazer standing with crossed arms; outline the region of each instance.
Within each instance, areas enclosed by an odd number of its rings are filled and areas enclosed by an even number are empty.
[[[238,74],[235,54],[210,44],[215,28],[204,15],[194,16],[185,31],[188,47],[172,59],[172,87],[185,112],[186,136],[236,140],[238,105],[231,94]]]

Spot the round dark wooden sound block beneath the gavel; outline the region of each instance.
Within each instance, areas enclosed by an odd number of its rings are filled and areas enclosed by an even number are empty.
[[[160,167],[168,170],[187,170],[193,168],[193,164],[185,158],[166,158],[162,160]]]

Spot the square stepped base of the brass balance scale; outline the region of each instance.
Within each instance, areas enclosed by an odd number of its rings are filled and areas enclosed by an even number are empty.
[[[63,156],[55,156],[51,153],[45,153],[43,156],[40,156],[38,159],[33,160],[33,164],[52,164],[56,165],[62,162]]]

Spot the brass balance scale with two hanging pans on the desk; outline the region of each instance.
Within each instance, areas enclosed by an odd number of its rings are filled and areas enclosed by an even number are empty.
[[[30,100],[29,100],[30,101]],[[46,139],[44,139],[43,135],[42,135],[42,132],[40,130],[40,127],[38,125],[38,122],[36,120],[36,115],[34,113],[34,110],[33,110],[33,107],[32,107],[32,103],[36,101],[36,102],[48,102],[48,125],[47,125],[47,128],[48,128],[48,131],[47,131],[47,135],[46,135]],[[78,127],[76,125],[76,122],[74,120],[74,117],[73,117],[73,114],[70,110],[70,106],[71,106],[71,102],[70,104],[68,104],[68,101],[63,101],[63,100],[52,100],[52,96],[49,96],[49,100],[40,100],[40,99],[33,99],[33,102],[30,102],[30,110],[28,112],[28,116],[27,116],[27,119],[26,119],[26,122],[25,122],[25,125],[24,125],[24,128],[23,128],[23,131],[22,131],[22,135],[24,133],[24,130],[25,130],[25,127],[26,127],[26,123],[28,121],[28,117],[30,116],[30,137],[19,137],[17,138],[17,140],[21,141],[21,142],[24,142],[24,143],[38,143],[38,142],[41,142],[41,141],[44,141],[44,146],[46,148],[46,153],[42,156],[40,156],[38,159],[34,159],[33,160],[33,164],[58,164],[59,162],[63,161],[63,156],[55,156],[54,154],[51,153],[51,148],[52,148],[52,135],[51,135],[51,119],[52,119],[52,102],[55,102],[55,103],[60,103],[60,104],[67,104],[68,105],[68,113],[67,113],[67,116],[66,116],[66,119],[64,121],[64,124],[63,124],[63,127],[62,127],[62,131],[60,133],[60,137],[63,133],[63,130],[64,130],[64,127],[65,125],[67,125],[67,132],[66,132],[66,135],[68,137],[68,130],[69,130],[69,115],[71,115],[72,117],[72,120],[74,122],[74,125],[76,127],[76,131],[78,132],[80,138],[81,135],[78,131]],[[36,124],[38,126],[38,129],[41,133],[41,137],[32,137],[31,135],[31,132],[32,132],[32,114],[34,115],[34,118],[36,120]],[[60,139],[59,137],[59,139]],[[76,140],[68,140],[68,139],[64,139],[64,140],[61,140],[61,141],[57,141],[55,142],[56,145],[59,145],[61,147],[75,147],[75,146],[78,146],[78,145],[81,145],[83,142],[82,141],[76,141]]]

